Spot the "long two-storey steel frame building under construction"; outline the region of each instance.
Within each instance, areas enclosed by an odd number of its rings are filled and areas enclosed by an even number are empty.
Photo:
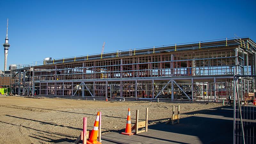
[[[248,37],[130,49],[33,62],[13,73],[12,93],[65,98],[186,99],[233,96],[234,75],[256,74]],[[254,77],[238,80],[255,92]]]

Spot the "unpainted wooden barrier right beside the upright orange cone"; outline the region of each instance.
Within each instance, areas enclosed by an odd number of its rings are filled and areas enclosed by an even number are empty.
[[[145,130],[140,130],[145,127]],[[145,121],[139,122],[139,110],[136,110],[136,122],[132,126],[132,130],[135,129],[135,134],[141,133],[141,132],[148,132],[148,108],[146,108],[146,118]]]

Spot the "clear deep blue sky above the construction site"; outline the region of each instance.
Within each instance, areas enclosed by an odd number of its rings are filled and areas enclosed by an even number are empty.
[[[9,64],[154,45],[249,36],[256,1],[0,1]],[[0,69],[4,48],[0,49]]]

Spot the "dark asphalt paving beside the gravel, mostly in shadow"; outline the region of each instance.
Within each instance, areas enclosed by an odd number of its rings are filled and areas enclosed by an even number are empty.
[[[118,132],[102,135],[102,143],[222,143],[233,142],[233,109],[226,107],[180,119],[180,124],[154,124],[148,132],[125,136]]]

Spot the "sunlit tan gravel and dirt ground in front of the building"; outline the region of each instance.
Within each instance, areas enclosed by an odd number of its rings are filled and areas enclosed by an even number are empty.
[[[221,106],[217,103],[105,102],[0,96],[0,144],[74,141],[82,131],[83,117],[87,117],[87,129],[91,130],[97,111],[102,112],[102,132],[105,133],[125,128],[128,108],[131,108],[132,125],[136,109],[142,121],[146,108],[149,108],[149,124],[164,122],[171,117],[172,105],[180,105],[181,118]]]

